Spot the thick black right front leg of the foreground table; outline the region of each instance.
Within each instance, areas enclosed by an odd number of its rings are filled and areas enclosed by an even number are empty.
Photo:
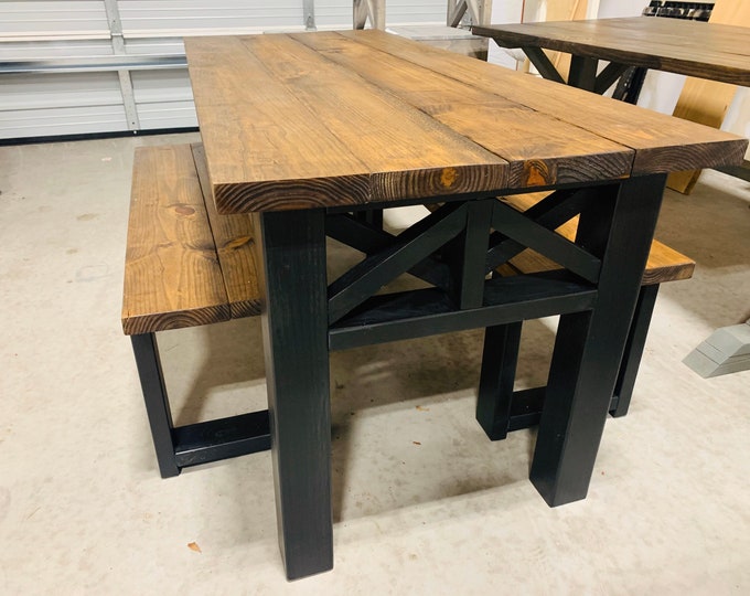
[[[603,253],[602,267],[593,310],[561,316],[557,331],[531,472],[551,507],[586,498],[665,181],[654,174],[614,187],[611,225],[607,196],[600,215],[581,214],[577,242]]]

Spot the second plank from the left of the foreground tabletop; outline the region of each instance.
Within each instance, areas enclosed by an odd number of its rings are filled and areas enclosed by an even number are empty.
[[[243,43],[367,166],[374,201],[507,184],[504,159],[291,35],[247,36]]]

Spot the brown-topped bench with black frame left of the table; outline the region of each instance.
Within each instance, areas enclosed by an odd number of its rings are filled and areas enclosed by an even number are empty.
[[[156,333],[260,313],[247,215],[218,215],[200,145],[136,150],[122,330],[162,477],[269,448],[268,412],[174,427]]]

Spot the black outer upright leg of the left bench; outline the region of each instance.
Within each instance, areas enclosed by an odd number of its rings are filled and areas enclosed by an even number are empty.
[[[159,348],[154,333],[130,336],[136,366],[141,382],[146,412],[151,426],[151,437],[157,451],[159,471],[162,478],[178,476],[180,468],[174,459],[172,414],[167,397],[164,376],[161,372]]]

